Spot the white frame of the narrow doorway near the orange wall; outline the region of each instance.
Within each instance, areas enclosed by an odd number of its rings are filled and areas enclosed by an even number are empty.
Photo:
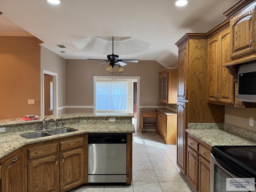
[[[58,74],[43,70],[42,74],[42,91],[41,91],[41,116],[44,116],[44,74],[52,76],[53,83],[53,115],[58,115]]]

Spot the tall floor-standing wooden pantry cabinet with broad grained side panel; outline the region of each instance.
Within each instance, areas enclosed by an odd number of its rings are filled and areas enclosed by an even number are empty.
[[[186,175],[188,123],[224,122],[224,106],[208,104],[208,36],[185,34],[178,42],[177,165]]]

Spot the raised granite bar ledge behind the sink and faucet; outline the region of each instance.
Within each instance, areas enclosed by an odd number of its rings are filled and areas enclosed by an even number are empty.
[[[63,120],[68,119],[76,119],[76,118],[133,118],[132,113],[70,113],[70,114],[62,114],[62,115],[52,115],[52,116],[40,116],[38,120],[30,120],[30,121],[22,121],[17,118],[13,119],[4,119],[0,120],[0,127],[4,126],[12,126],[12,125],[24,125],[24,124],[34,124],[38,122],[42,122],[45,117],[55,118],[56,120],[60,120],[61,116]]]

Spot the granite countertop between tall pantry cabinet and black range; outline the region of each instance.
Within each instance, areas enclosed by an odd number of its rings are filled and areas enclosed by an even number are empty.
[[[220,129],[186,129],[186,132],[210,146],[214,145],[256,145],[256,141]]]

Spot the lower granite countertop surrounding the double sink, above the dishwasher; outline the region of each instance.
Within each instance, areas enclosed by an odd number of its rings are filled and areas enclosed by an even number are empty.
[[[32,133],[32,132],[38,132],[38,130],[2,134],[0,135],[0,148],[1,148],[0,159],[7,156],[8,154],[11,154],[12,152],[18,150],[19,148],[27,144],[44,142],[44,141],[54,140],[58,138],[65,138],[65,137],[75,136],[75,135],[84,134],[84,133],[134,133],[135,132],[135,129],[132,123],[131,124],[117,124],[117,123],[116,124],[102,124],[102,123],[73,124],[67,127],[77,129],[77,131],[58,134],[58,135],[52,135],[52,136],[46,136],[41,138],[35,138],[35,139],[25,139],[20,135]],[[47,130],[52,130],[52,129],[47,129]]]

